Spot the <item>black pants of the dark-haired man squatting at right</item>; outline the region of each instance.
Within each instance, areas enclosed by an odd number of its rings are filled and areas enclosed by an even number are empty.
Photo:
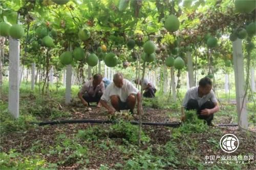
[[[201,107],[199,107],[197,100],[189,99],[187,102],[186,110],[197,110],[197,115],[199,119],[204,119],[207,122],[207,125],[211,124],[211,120],[214,119],[214,114],[210,115],[201,115],[201,110],[203,109],[212,109],[215,107],[215,104],[210,100],[205,102]]]

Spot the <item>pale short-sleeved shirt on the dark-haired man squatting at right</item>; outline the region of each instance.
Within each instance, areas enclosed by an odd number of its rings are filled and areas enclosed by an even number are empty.
[[[205,102],[208,100],[211,100],[213,103],[217,103],[217,98],[215,96],[214,91],[211,89],[210,92],[206,95],[203,95],[202,98],[198,96],[198,87],[191,87],[190,89],[187,90],[184,101],[183,101],[183,106],[186,108],[187,107],[187,102],[189,99],[194,99],[198,102],[199,107],[201,107]]]

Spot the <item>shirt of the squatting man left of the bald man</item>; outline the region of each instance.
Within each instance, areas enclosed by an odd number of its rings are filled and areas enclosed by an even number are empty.
[[[102,93],[104,93],[105,91],[105,87],[104,87],[104,83],[100,82],[99,85],[96,86],[96,88],[93,88],[93,80],[89,80],[86,83],[83,84],[82,88],[80,89],[80,93],[84,94],[84,93],[88,93],[91,96],[95,96],[97,92],[101,91]]]

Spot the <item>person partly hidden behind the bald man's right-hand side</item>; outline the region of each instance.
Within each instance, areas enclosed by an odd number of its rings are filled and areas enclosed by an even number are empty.
[[[141,85],[142,80],[140,81],[139,79],[136,79],[134,82],[135,84]],[[146,78],[144,78],[142,88],[144,90],[144,93],[143,93],[144,98],[155,98],[155,93],[157,89],[155,88],[154,84],[149,82]]]

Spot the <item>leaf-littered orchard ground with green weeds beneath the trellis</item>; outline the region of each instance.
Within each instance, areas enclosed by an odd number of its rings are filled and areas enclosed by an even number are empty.
[[[56,92],[50,86],[50,96],[39,95],[38,86],[30,90],[30,83],[20,86],[20,116],[14,120],[8,113],[8,82],[1,91],[1,169],[255,169],[255,164],[205,163],[207,156],[255,156],[255,118],[253,103],[249,102],[249,130],[237,127],[208,127],[184,124],[179,128],[142,126],[142,145],[138,147],[138,126],[125,123],[62,124],[36,126],[30,122],[56,119],[107,120],[106,110],[85,108],[77,98],[78,86],[72,86],[72,103],[65,105],[65,87]],[[180,89],[180,99],[186,89]],[[169,100],[168,94],[157,92],[156,99],[144,100],[145,122],[179,122],[181,101]],[[216,113],[215,124],[237,123],[234,91],[228,96],[219,91],[221,111]],[[129,117],[134,119],[133,117]],[[136,119],[135,119],[136,120]],[[224,153],[219,145],[221,137],[231,133],[239,140],[234,153]]]

